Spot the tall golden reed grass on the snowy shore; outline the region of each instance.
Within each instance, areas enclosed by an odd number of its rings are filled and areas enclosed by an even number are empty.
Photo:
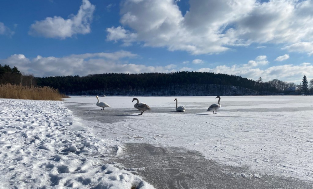
[[[12,84],[0,85],[0,98],[28,100],[62,100],[68,98],[51,87],[34,87]]]

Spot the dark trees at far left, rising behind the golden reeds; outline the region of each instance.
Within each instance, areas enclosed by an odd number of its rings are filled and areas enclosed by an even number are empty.
[[[11,68],[9,65],[0,64],[0,84],[13,84],[23,86],[36,86],[33,75],[23,75],[17,67]]]

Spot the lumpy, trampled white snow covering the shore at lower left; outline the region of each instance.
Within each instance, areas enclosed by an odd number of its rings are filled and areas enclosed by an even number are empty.
[[[153,188],[59,101],[0,99],[0,188]]]

